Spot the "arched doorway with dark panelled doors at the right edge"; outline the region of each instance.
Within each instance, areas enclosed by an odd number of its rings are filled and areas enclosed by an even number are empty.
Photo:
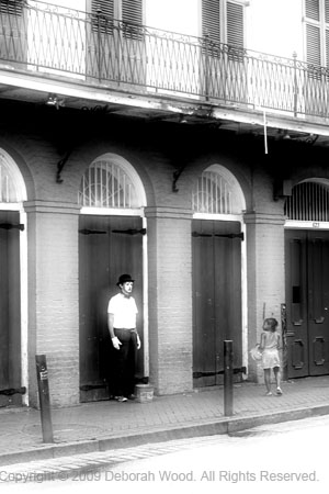
[[[296,184],[285,202],[287,378],[329,373],[329,182]]]

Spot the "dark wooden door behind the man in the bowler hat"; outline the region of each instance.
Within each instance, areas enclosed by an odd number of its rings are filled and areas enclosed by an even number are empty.
[[[118,292],[117,279],[129,273],[136,280],[134,297],[138,307],[138,329],[143,321],[141,218],[126,216],[80,217],[80,397],[82,402],[109,396],[112,345],[107,329],[107,303]],[[141,348],[144,348],[141,341]],[[138,352],[143,374],[143,350]]]

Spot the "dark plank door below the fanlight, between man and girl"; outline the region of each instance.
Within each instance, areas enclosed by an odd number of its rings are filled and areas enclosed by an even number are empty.
[[[193,221],[193,378],[223,382],[224,340],[241,367],[241,234],[238,222]]]

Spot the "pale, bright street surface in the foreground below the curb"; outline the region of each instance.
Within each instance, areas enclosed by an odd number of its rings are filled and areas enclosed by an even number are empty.
[[[328,438],[329,416],[322,416],[264,425],[230,436],[90,453],[88,459],[93,457],[94,467],[77,469],[73,474],[69,473],[72,462],[82,465],[86,454],[68,457],[67,471],[63,468],[54,479],[50,472],[55,460],[48,460],[47,475],[37,474],[36,462],[11,470],[3,467],[1,493],[90,493],[97,489],[98,494],[120,494],[133,489],[152,494],[327,494]]]

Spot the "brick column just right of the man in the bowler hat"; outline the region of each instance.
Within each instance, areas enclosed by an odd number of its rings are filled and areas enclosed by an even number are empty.
[[[190,210],[147,207],[150,381],[158,394],[189,391],[192,381],[192,248]]]

